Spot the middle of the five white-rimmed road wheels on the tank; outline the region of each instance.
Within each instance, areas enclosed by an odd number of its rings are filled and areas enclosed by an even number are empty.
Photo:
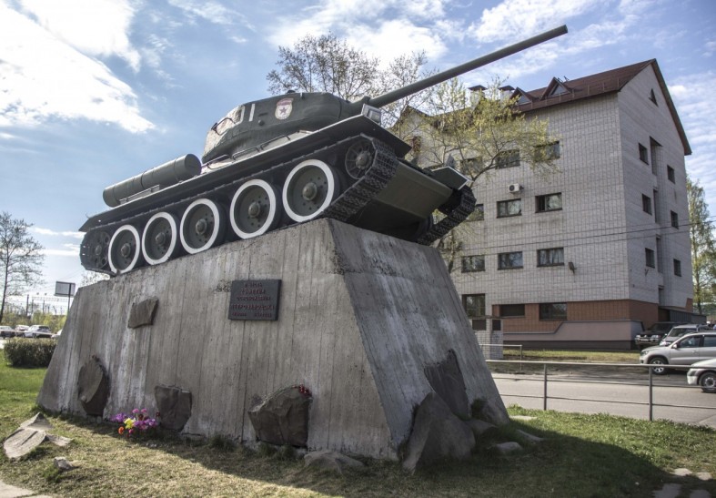
[[[197,198],[181,217],[179,238],[189,254],[197,254],[220,244],[226,229],[224,210],[211,199]]]

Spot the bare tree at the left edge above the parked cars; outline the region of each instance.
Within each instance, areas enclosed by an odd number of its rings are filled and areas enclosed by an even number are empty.
[[[43,247],[27,233],[32,225],[23,219],[13,219],[10,213],[0,214],[0,276],[3,296],[0,301],[0,322],[5,313],[5,300],[37,283],[41,283],[45,259]]]

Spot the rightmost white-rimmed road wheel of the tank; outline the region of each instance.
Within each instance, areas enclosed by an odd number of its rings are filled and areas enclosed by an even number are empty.
[[[302,161],[284,183],[284,209],[294,221],[314,219],[338,197],[339,189],[333,168],[318,159]]]

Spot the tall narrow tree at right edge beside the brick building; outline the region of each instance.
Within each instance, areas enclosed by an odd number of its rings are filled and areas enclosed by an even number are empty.
[[[716,241],[713,238],[711,215],[699,181],[686,178],[689,199],[689,235],[693,270],[693,300],[699,313],[716,297]]]

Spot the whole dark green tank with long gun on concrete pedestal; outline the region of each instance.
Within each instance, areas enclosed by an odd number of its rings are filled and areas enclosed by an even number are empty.
[[[86,220],[86,269],[119,274],[318,217],[430,244],[466,219],[475,198],[453,168],[423,170],[380,126],[380,107],[567,32],[542,33],[377,97],[287,93],[232,109],[191,154],[104,191]],[[434,223],[439,209],[445,217]]]

